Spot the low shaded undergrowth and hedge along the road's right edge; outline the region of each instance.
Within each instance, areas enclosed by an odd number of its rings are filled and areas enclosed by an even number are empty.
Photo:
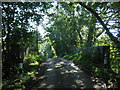
[[[110,59],[108,61],[110,67],[107,68],[108,71],[106,73],[104,72],[104,60],[99,56],[101,56],[101,53],[98,47],[84,47],[81,52],[65,55],[63,58],[73,60],[73,62],[86,68],[94,76],[108,81],[110,85],[119,86],[119,49],[113,46],[110,47]]]

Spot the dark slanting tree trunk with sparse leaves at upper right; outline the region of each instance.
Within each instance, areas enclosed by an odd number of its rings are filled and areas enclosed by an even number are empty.
[[[111,40],[116,44],[116,45],[118,45],[118,43],[119,43],[119,41],[118,41],[118,39],[110,32],[110,30],[109,30],[109,28],[107,27],[107,25],[105,25],[105,23],[104,23],[104,21],[102,20],[102,18],[99,16],[99,14],[94,10],[94,9],[92,9],[92,8],[90,8],[90,7],[88,7],[87,5],[85,5],[84,3],[82,3],[82,2],[79,2],[79,4],[81,5],[81,6],[83,6],[84,8],[86,8],[88,11],[90,11],[96,18],[97,18],[97,20],[100,22],[100,24],[103,26],[103,28],[106,30],[106,34],[111,38]],[[105,3],[106,4],[106,3]],[[107,3],[106,5],[107,5],[107,10],[105,11],[105,9],[104,8],[106,8],[106,7],[102,7],[102,5],[100,4],[100,3],[95,3],[95,5],[98,5],[99,7],[101,6],[101,8],[104,10],[104,11],[102,11],[102,13],[101,14],[103,14],[103,12],[104,12],[104,14],[105,13],[107,13],[107,11],[108,10],[110,10],[110,12],[112,13],[110,16],[112,17],[113,15],[114,16],[117,16],[118,17],[118,8],[115,8],[114,6],[115,5],[117,5],[118,6],[118,4],[116,4],[116,3]],[[110,13],[109,12],[109,13]],[[114,14],[114,13],[117,13],[116,15]],[[103,14],[103,15],[104,15]],[[112,17],[113,18],[113,17]],[[114,17],[115,18],[115,17]],[[118,19],[118,18],[117,18]],[[109,20],[109,19],[108,19]],[[119,23],[119,22],[118,22]]]

